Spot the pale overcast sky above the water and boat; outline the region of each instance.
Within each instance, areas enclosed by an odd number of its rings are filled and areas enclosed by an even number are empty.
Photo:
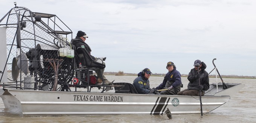
[[[0,18],[14,7],[0,0]],[[107,57],[107,72],[188,74],[196,59],[212,59],[222,75],[256,76],[255,0],[16,0],[32,12],[57,15],[88,35],[91,55]],[[70,39],[71,40],[71,37]],[[215,72],[211,73],[215,74]]]

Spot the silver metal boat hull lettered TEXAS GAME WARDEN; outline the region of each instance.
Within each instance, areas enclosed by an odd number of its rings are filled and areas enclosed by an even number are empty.
[[[22,115],[62,114],[172,114],[200,113],[198,96],[123,93],[52,92],[5,89],[1,95],[8,112]],[[203,96],[203,113],[229,101],[230,96]]]

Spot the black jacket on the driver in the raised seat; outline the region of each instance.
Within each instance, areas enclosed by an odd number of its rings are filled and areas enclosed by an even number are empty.
[[[84,48],[90,54],[91,58],[95,59],[95,57],[91,55],[90,46],[87,43],[85,43],[80,37],[76,36],[76,38],[72,39],[71,42],[73,45],[75,45],[76,48],[78,48],[78,47]],[[80,54],[80,53],[78,53],[78,54]]]

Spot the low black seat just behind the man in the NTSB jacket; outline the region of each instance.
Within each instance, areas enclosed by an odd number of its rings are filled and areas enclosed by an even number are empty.
[[[113,85],[124,85],[124,86],[114,87],[115,93],[136,93],[136,94],[138,94],[137,90],[131,83],[113,83]]]

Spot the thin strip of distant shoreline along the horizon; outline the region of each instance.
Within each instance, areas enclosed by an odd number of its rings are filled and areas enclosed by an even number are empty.
[[[116,76],[117,72],[104,72],[105,75]],[[123,73],[123,76],[137,76],[134,73]],[[165,76],[165,74],[151,74],[151,76]],[[181,74],[181,77],[187,77],[187,74]],[[216,75],[209,75],[210,78],[215,78]],[[217,76],[219,77],[219,76]],[[222,78],[237,78],[237,79],[256,79],[256,76],[236,76],[236,75],[221,75]]]

